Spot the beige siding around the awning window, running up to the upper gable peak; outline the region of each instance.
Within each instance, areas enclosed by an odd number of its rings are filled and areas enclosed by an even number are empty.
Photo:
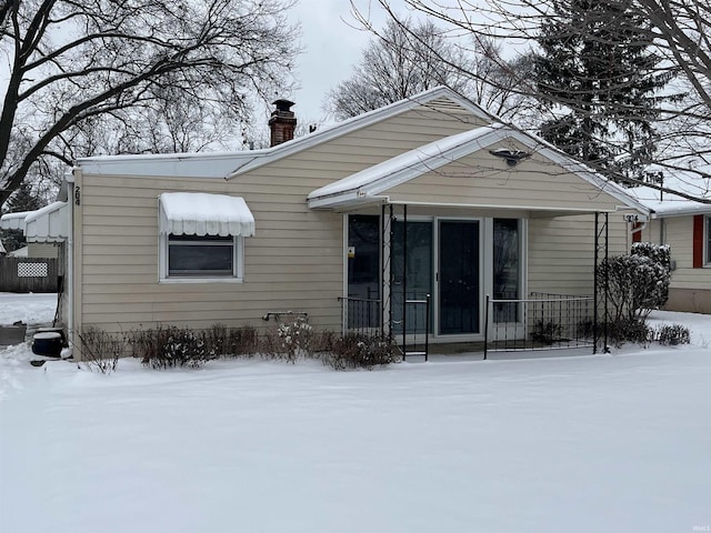
[[[298,311],[309,313],[317,329],[338,330],[343,218],[309,211],[307,195],[404,150],[480,124],[462,108],[434,102],[229,181],[83,175],[78,181],[77,325],[108,331],[158,323],[259,328],[272,323],[261,320],[267,312]],[[159,283],[158,197],[169,191],[244,198],[257,234],[244,239],[243,283]]]

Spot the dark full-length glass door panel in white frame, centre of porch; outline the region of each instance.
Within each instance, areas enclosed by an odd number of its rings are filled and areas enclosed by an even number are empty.
[[[439,330],[479,333],[479,222],[440,221]]]

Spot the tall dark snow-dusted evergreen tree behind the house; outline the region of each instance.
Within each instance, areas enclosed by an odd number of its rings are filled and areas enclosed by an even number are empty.
[[[541,137],[608,171],[639,178],[655,151],[658,92],[670,71],[640,33],[649,22],[619,0],[554,0],[543,21],[535,58],[540,98],[554,112]],[[662,72],[662,73],[660,73]]]

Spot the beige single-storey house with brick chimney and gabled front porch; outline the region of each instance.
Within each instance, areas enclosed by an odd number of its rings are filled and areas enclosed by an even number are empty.
[[[490,295],[509,300],[492,320],[527,335],[510,300],[592,294],[597,261],[629,244],[621,213],[647,213],[445,88],[298,139],[292,103],[276,103],[269,149],[77,162],[71,332],[302,313],[319,330],[419,321],[431,342],[480,341]]]

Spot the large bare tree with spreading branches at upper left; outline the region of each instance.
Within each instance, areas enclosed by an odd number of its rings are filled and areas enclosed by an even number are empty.
[[[291,83],[294,0],[0,1],[0,204],[41,162],[121,137],[200,148],[196,124],[248,118],[252,94]]]

